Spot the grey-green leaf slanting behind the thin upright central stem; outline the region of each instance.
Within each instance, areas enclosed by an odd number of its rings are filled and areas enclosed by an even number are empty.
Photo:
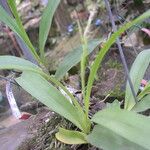
[[[88,44],[88,54],[90,54],[102,41],[101,40],[92,40]],[[77,63],[81,61],[82,56],[82,46],[77,47],[72,52],[70,52],[64,58],[63,62],[59,65],[55,77],[57,79],[62,79],[63,76]]]

